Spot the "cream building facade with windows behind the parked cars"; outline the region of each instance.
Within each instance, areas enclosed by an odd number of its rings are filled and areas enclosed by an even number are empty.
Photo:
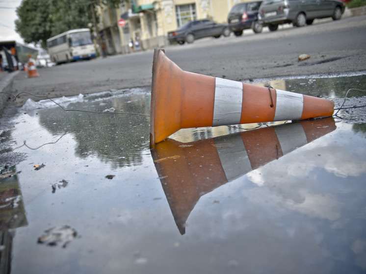
[[[112,9],[100,4],[98,30],[107,54],[164,47],[168,44],[169,31],[192,20],[226,23],[230,9],[244,1],[131,0]],[[123,22],[119,24],[121,19]],[[138,45],[135,45],[136,41]]]

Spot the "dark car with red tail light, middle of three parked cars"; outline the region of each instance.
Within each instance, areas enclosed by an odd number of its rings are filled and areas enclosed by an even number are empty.
[[[243,30],[248,28],[252,28],[255,33],[262,31],[262,25],[258,22],[261,2],[251,1],[233,6],[228,15],[228,24],[236,36],[240,36]]]

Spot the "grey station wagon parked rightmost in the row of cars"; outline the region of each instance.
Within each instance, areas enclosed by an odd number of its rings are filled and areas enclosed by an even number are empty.
[[[326,17],[339,20],[343,12],[344,5],[339,0],[264,0],[258,20],[274,31],[279,24],[311,25],[315,18]]]

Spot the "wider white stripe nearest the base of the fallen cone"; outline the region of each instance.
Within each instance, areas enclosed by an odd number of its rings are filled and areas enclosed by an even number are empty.
[[[239,124],[242,101],[242,83],[216,77],[212,126]]]

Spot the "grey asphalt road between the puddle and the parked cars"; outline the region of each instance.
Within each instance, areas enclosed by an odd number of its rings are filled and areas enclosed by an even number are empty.
[[[289,75],[332,74],[366,70],[366,16],[340,21],[316,20],[305,27],[280,26],[261,34],[205,38],[165,47],[166,55],[185,71],[250,81]],[[38,69],[37,78],[21,72],[13,92],[52,98],[151,85],[154,50]],[[310,59],[299,62],[298,55]],[[22,96],[24,103],[29,96]],[[33,100],[38,100],[32,97]]]

